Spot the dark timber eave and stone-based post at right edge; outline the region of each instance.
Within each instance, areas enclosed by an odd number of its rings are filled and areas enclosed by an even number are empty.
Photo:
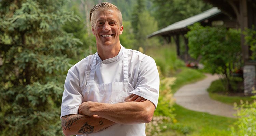
[[[246,28],[256,26],[256,0],[204,0],[218,7],[223,13],[236,20],[237,28],[244,31]],[[245,44],[244,35],[241,34],[241,48],[244,67],[244,93],[252,94],[252,88],[256,87],[256,60],[250,59],[252,52]]]

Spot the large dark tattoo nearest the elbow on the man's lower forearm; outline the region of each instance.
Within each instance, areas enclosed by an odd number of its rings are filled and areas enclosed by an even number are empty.
[[[66,115],[61,118],[61,125],[62,129],[66,130],[67,128],[70,130],[72,124],[77,120],[81,119],[82,117],[79,115]],[[77,123],[76,123],[77,124]]]

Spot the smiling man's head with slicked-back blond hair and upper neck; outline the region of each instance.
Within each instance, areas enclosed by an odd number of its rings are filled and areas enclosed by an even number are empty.
[[[123,32],[122,15],[113,4],[103,2],[90,11],[92,32],[95,35],[98,54],[121,48],[119,35]]]

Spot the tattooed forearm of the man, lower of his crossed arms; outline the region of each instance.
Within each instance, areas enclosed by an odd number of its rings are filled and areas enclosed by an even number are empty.
[[[61,117],[61,124],[63,133],[69,136],[95,133],[115,123],[97,115],[85,116],[73,114]]]

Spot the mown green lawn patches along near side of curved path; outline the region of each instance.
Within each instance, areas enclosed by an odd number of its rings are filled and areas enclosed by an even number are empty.
[[[172,85],[172,93],[175,93],[181,86],[202,80],[205,75],[195,69],[183,67],[175,75],[176,82]],[[210,115],[207,113],[187,110],[174,104],[176,123],[166,123],[168,126],[161,136],[230,136],[231,126],[236,121],[234,118]]]

